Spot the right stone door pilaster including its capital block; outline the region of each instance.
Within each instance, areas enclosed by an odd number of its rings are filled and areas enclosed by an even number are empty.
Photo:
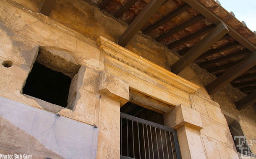
[[[183,159],[206,159],[200,138],[201,116],[187,106],[176,106],[164,116],[165,125],[177,130]]]

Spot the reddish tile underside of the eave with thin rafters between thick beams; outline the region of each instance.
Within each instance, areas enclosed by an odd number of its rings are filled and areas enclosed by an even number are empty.
[[[97,3],[98,6],[102,4],[102,0],[91,1]],[[198,1],[222,18],[222,20],[234,28],[240,35],[256,45],[256,35],[215,1]],[[132,2],[133,5],[120,14],[120,11],[122,11],[129,2]],[[109,0],[109,3],[102,7],[102,9],[107,10],[111,15],[130,24],[148,2],[149,0]],[[168,14],[172,14],[175,10],[184,8],[185,5],[187,4],[182,0],[167,0],[147,21],[144,27],[141,28],[144,34],[152,36],[168,48],[177,51],[181,56],[196,45],[196,43],[201,41],[216,25],[189,6],[178,16],[168,20],[156,29],[149,32],[147,32],[146,29],[168,16]],[[189,26],[187,26],[186,23],[189,23]],[[181,30],[179,28],[184,29]],[[240,43],[230,35],[225,35],[194,62],[199,64],[201,68],[206,68],[209,73],[220,76],[250,54],[250,50],[240,45]],[[240,91],[248,94],[256,91],[256,66],[233,80],[231,84],[239,88]]]

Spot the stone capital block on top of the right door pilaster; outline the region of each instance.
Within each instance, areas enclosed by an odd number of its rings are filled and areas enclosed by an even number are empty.
[[[179,129],[182,126],[196,130],[203,129],[200,113],[188,106],[176,106],[172,111],[165,114],[164,119],[165,123],[173,129]]]

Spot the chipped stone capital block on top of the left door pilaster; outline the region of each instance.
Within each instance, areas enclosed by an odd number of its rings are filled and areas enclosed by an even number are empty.
[[[120,101],[120,106],[130,100],[129,84],[106,72],[102,72],[100,75],[99,93]]]

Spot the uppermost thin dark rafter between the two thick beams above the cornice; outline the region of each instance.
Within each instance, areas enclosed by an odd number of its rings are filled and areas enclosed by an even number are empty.
[[[166,15],[164,18],[158,20],[156,23],[150,25],[146,29],[143,30],[144,34],[150,33],[152,30],[158,28],[159,26],[165,24],[166,22],[170,21],[171,19],[175,18],[178,16],[180,13],[183,13],[184,11],[188,10],[188,8],[191,8],[187,3],[184,3],[181,5],[179,8],[175,9],[173,12],[169,13]]]

